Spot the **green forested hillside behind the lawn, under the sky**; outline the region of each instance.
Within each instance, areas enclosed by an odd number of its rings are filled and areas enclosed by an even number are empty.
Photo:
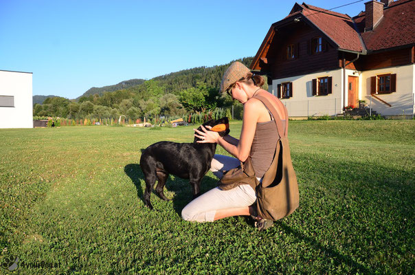
[[[252,59],[239,61],[249,66]],[[124,88],[122,83],[91,88],[77,100],[57,96],[46,98],[43,104],[34,104],[33,114],[72,120],[117,119],[124,115],[128,120],[142,120],[229,109],[233,104],[237,110],[235,118],[240,118],[241,104],[218,93],[223,72],[229,65],[196,67],[150,80],[127,80],[122,82]],[[92,91],[96,93],[91,94]]]

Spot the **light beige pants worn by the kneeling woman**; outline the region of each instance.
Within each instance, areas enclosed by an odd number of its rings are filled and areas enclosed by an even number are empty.
[[[238,166],[239,161],[234,157],[214,155],[210,170],[221,179],[223,173],[220,170],[230,170]],[[216,187],[190,201],[181,211],[181,217],[186,221],[214,221],[216,210],[251,206],[255,201],[255,190],[248,184],[231,190]]]

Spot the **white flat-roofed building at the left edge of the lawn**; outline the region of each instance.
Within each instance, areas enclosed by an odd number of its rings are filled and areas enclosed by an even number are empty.
[[[0,70],[1,128],[33,128],[32,73]]]

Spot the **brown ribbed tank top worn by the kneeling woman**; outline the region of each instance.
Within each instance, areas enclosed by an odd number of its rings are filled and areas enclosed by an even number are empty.
[[[276,151],[278,131],[276,122],[273,121],[272,114],[270,121],[258,122],[256,124],[256,131],[254,140],[251,145],[251,163],[255,170],[256,177],[263,177],[267,172],[273,159],[273,154]],[[285,129],[285,120],[281,120]]]

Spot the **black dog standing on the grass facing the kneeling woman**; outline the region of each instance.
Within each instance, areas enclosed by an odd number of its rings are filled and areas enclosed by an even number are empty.
[[[229,133],[229,120],[226,117],[210,120],[203,126],[212,126],[210,131],[216,131],[221,136]],[[201,127],[198,130],[201,131]],[[198,137],[194,137],[193,143],[157,142],[143,151],[139,165],[146,179],[144,203],[148,208],[153,209],[150,194],[156,179],[159,181],[157,194],[161,199],[169,200],[164,196],[164,185],[169,174],[190,179],[193,197],[199,195],[201,180],[210,169],[216,143],[197,143],[198,140]]]

